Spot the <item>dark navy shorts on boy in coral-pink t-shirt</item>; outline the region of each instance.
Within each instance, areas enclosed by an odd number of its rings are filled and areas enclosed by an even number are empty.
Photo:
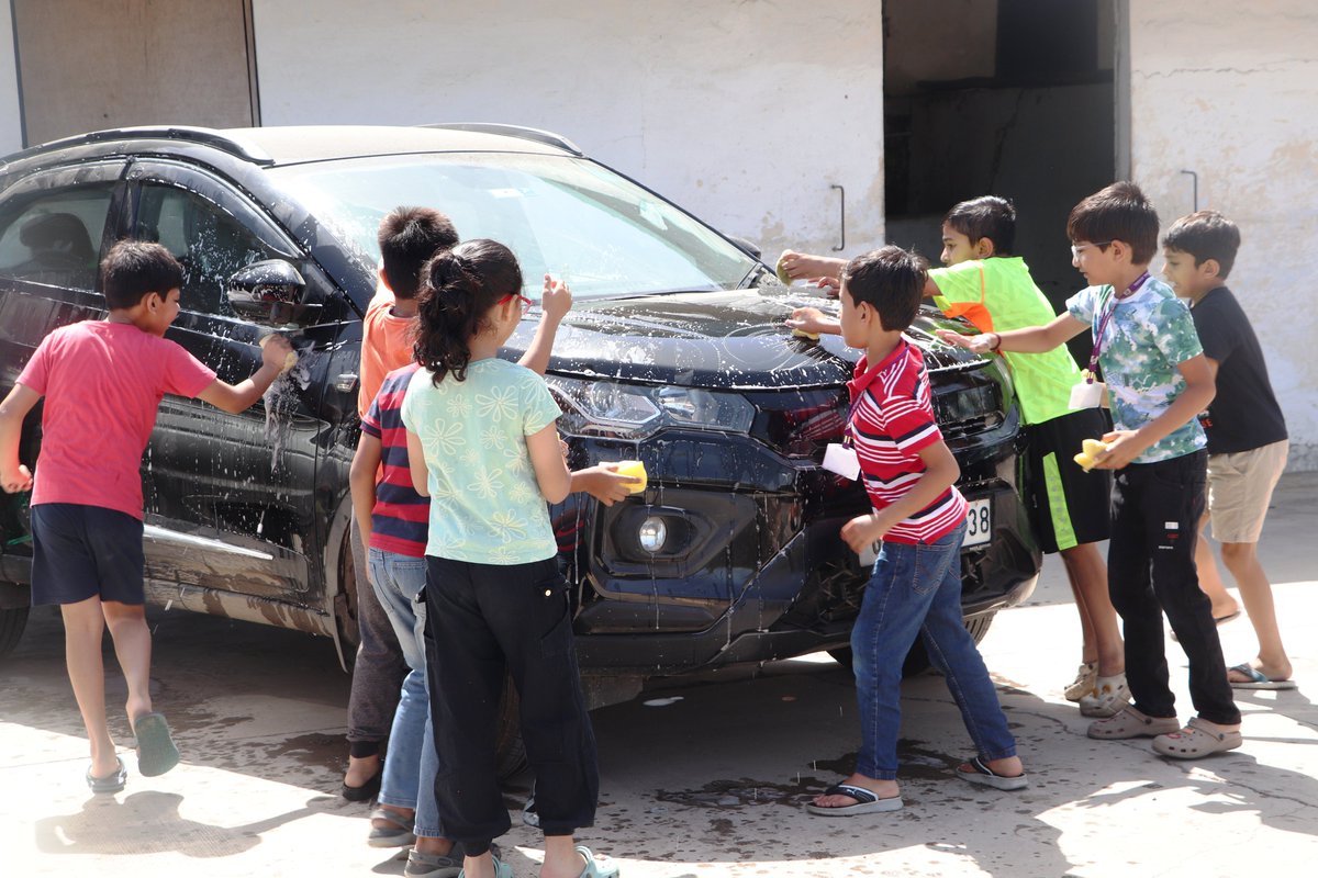
[[[32,604],[145,603],[142,523],[99,505],[32,507]]]

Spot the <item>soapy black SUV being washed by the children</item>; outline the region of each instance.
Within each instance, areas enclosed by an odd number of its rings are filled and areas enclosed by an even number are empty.
[[[593,706],[647,677],[845,649],[866,570],[838,538],[863,491],[820,467],[855,361],[793,338],[784,288],[735,242],[544,132],[430,128],[138,128],[0,159],[0,394],[55,326],[104,315],[99,257],[159,241],[183,263],[169,337],[229,382],[275,325],[301,365],[243,415],[165,398],[142,458],[153,603],[355,640],[348,462],[376,228],[399,204],[511,246],[538,295],[575,295],[547,380],[573,466],[639,458],[650,487],[552,520]],[[535,313],[509,357],[531,337]],[[1023,600],[1039,553],[1015,490],[1019,413],[995,359],[909,330],[971,502],[967,624]],[[40,446],[40,412],[22,458]],[[0,653],[28,612],[26,499],[0,509]]]

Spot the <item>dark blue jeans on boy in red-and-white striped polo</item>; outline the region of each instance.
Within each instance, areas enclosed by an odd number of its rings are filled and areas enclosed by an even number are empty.
[[[898,775],[902,724],[902,662],[916,634],[948,681],[979,758],[1016,754],[1016,740],[998,704],[975,641],[961,617],[961,540],[966,525],[937,542],[884,542],[851,629],[851,667],[861,708],[855,770],[892,781]]]

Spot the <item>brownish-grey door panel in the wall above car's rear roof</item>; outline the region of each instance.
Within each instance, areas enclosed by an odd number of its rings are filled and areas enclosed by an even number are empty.
[[[24,145],[260,124],[250,0],[11,0]]]

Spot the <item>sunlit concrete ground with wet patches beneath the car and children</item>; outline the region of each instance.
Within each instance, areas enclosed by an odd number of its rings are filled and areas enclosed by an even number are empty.
[[[1085,737],[1087,721],[1061,698],[1078,662],[1078,625],[1054,559],[1035,599],[1000,615],[982,648],[1028,790],[953,777],[969,740],[942,681],[920,677],[903,691],[905,810],[808,815],[801,802],[850,771],[858,737],[847,674],[815,656],[668,683],[597,711],[598,825],[580,839],[629,878],[1311,875],[1315,498],[1318,477],[1288,477],[1261,544],[1301,687],[1238,694],[1239,750],[1173,762],[1147,741]],[[366,806],[336,795],[348,681],[330,641],[178,611],[150,619],[157,704],[185,762],[142,778],[125,746],[130,777],[115,796],[92,796],[82,781],[86,741],[58,616],[36,613],[18,650],[0,661],[0,874],[402,874],[401,860],[366,846]],[[1220,631],[1228,663],[1252,654],[1247,621]],[[1185,657],[1172,642],[1168,659],[1189,711]],[[108,688],[121,703],[123,681],[111,675]],[[116,725],[130,742],[127,720]],[[510,804],[529,786],[517,778]],[[521,824],[503,839],[519,877],[538,873],[538,842]]]

